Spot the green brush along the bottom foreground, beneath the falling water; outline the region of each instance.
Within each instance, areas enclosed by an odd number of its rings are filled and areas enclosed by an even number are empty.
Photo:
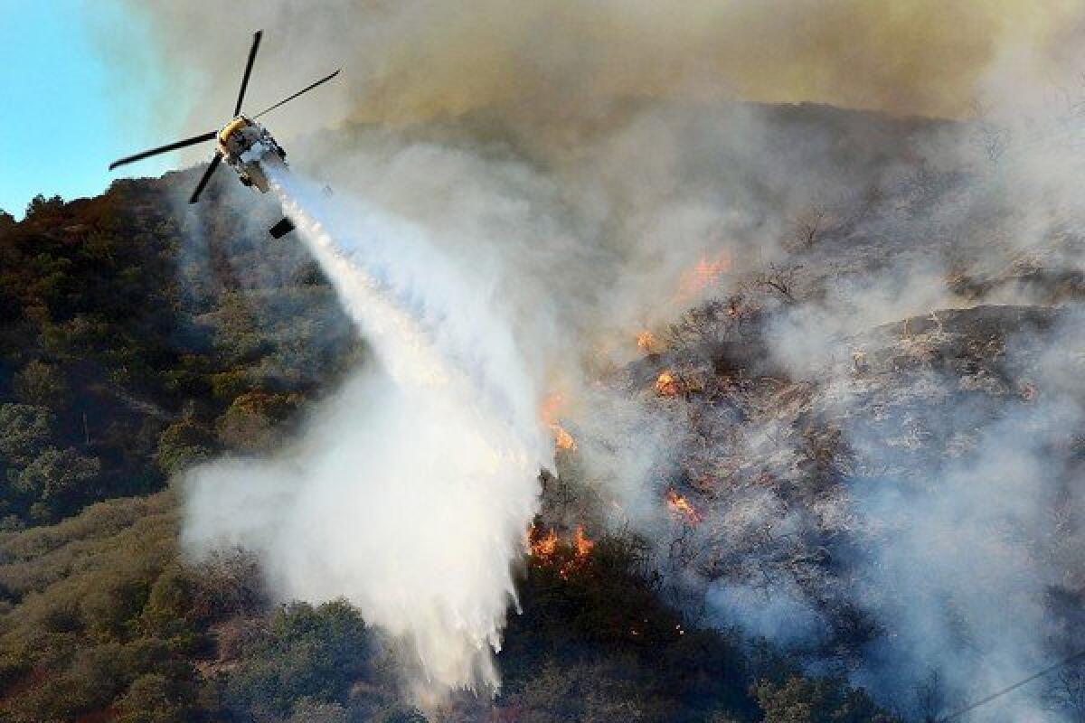
[[[356,609],[272,604],[241,552],[186,564],[177,527],[163,492],[0,533],[0,720],[420,720],[396,647]],[[464,695],[434,720],[891,720],[839,681],[685,629],[638,571],[640,548],[604,538],[585,558],[564,544],[533,558],[501,695]]]

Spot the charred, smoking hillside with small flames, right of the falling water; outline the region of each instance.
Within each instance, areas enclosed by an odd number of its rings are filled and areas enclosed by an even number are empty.
[[[641,435],[662,448],[649,491],[577,457],[630,427],[571,414],[544,526],[651,530],[661,592],[688,620],[738,623],[898,710],[944,714],[969,697],[959,670],[992,657],[1042,667],[1077,650],[1085,330],[1067,276],[1018,286],[1054,306],[983,304],[947,276],[937,298],[952,306],[808,330],[794,319],[817,322],[827,286],[877,270],[830,273],[801,254],[638,336],[641,358],[592,399],[596,414],[633,398],[637,417],[666,419]],[[1069,680],[1033,695],[1069,705]]]

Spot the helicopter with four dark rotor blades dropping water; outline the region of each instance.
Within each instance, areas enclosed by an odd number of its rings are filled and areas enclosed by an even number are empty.
[[[210,181],[210,177],[214,176],[215,170],[224,159],[227,165],[233,168],[233,170],[238,173],[238,178],[241,180],[242,184],[255,188],[260,193],[267,193],[270,190],[267,169],[276,165],[285,168],[286,152],[283,151],[282,146],[276,142],[275,138],[271,137],[271,133],[267,130],[267,128],[256,122],[256,119],[267,113],[270,113],[271,111],[275,111],[279,106],[289,103],[298,95],[309,92],[317,86],[328,82],[337,76],[340,70],[337,69],[334,73],[324,76],[320,80],[306,86],[293,95],[279,101],[275,105],[264,108],[254,116],[250,117],[242,115],[241,106],[245,100],[245,89],[248,87],[248,77],[252,75],[253,63],[256,62],[256,52],[259,50],[260,38],[263,36],[263,30],[257,30],[253,35],[253,44],[252,48],[248,49],[248,62],[245,64],[245,74],[241,78],[241,90],[238,92],[238,103],[233,108],[233,117],[228,124],[222,126],[219,130],[208,131],[206,133],[201,133],[200,135],[187,138],[183,141],[176,141],[174,143],[161,145],[156,149],[151,149],[150,151],[143,151],[135,155],[119,158],[110,164],[110,170],[113,170],[118,166],[124,166],[125,164],[130,164],[136,160],[142,160],[143,158],[158,155],[159,153],[168,153],[189,145],[195,145],[196,143],[205,143],[214,140],[216,141],[215,155],[212,156],[210,164],[208,164],[207,169],[200,179],[200,183],[196,184],[195,190],[189,197],[189,203],[194,204],[200,201],[200,194],[207,185],[207,182]],[[273,237],[280,238],[290,233],[293,229],[294,224],[290,221],[290,219],[283,218],[281,221],[271,227],[269,233]]]

